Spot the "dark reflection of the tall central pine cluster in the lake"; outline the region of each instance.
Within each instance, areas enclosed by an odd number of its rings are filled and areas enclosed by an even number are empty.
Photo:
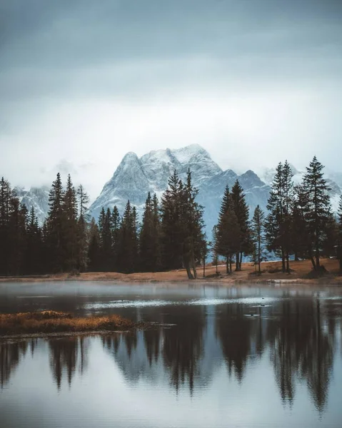
[[[178,391],[188,380],[193,391],[193,380],[198,371],[198,360],[203,352],[205,314],[200,306],[177,307],[174,312],[177,325],[164,330],[164,364],[171,371],[171,383]]]

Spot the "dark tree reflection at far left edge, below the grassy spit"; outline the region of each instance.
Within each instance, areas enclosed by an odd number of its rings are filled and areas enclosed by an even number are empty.
[[[11,373],[16,369],[17,365],[19,365],[21,357],[26,355],[27,346],[27,342],[0,343],[1,389],[9,382]]]

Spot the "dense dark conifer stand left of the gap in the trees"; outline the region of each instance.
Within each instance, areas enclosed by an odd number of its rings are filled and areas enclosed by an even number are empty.
[[[76,190],[69,175],[66,187],[57,174],[49,193],[49,214],[39,226],[34,208],[28,213],[9,182],[0,183],[0,275],[50,272],[156,272],[185,267],[197,276],[196,265],[206,250],[203,209],[196,203],[191,172],[186,181],[175,171],[159,203],[147,196],[141,224],[128,201],[101,210],[89,221],[89,197]]]

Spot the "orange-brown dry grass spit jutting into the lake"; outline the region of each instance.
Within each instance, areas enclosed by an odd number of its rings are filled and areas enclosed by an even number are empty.
[[[65,312],[19,312],[0,314],[0,335],[55,332],[96,332],[136,327],[134,322],[119,315],[104,317],[73,317]]]

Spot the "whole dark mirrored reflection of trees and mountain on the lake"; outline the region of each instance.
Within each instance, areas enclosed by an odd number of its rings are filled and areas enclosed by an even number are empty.
[[[236,302],[174,305],[154,311],[159,322],[168,325],[101,337],[106,355],[126,382],[166,382],[177,393],[187,389],[193,395],[210,384],[221,367],[226,367],[228,382],[233,377],[243,383],[246,372],[258,370],[258,362],[267,357],[283,404],[293,405],[296,388],[302,383],[316,409],[326,409],[342,313],[336,302],[298,297],[267,307]],[[57,389],[64,379],[71,387],[76,371],[86,373],[93,340],[64,337],[42,341],[48,344]],[[8,384],[28,349],[34,356],[36,347],[36,340],[0,344],[1,388]]]

